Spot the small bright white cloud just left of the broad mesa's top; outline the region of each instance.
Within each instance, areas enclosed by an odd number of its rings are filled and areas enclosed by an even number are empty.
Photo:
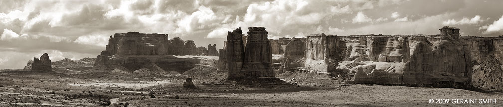
[[[82,35],[82,36],[78,36],[78,38],[75,39],[74,42],[82,43],[82,44],[93,44],[93,45],[104,46],[104,45],[108,44],[109,38],[110,38],[109,36],[99,35],[99,34]]]

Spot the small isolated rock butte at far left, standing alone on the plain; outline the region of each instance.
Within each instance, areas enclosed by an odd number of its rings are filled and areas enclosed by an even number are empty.
[[[47,52],[40,56],[40,59],[33,57],[32,71],[52,71],[51,59],[49,59]]]

